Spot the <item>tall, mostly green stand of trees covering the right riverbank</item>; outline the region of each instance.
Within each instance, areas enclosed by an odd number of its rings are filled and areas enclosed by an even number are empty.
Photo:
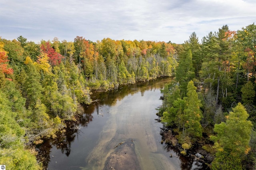
[[[199,43],[193,32],[178,51],[175,81],[158,115],[165,142],[186,155],[195,144],[213,154],[214,170],[256,164],[256,26],[227,25]]]

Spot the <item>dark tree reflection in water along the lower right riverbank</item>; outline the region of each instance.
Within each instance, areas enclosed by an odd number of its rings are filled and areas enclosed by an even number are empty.
[[[162,140],[165,140],[164,138],[164,134],[165,132],[168,132],[168,130],[170,130],[170,128],[160,128],[160,134],[162,136]],[[196,166],[196,170],[210,170],[210,168],[206,165],[206,164],[203,164],[202,162],[198,162],[198,161],[195,161],[194,159],[194,156],[192,155],[196,155],[196,148],[194,148],[194,150],[190,150],[187,151],[187,155],[184,156],[182,154],[180,154],[180,148],[181,146],[179,144],[177,144],[177,146],[172,146],[172,144],[168,144],[168,143],[163,143],[163,148],[166,150],[166,152],[175,152],[176,155],[178,156],[178,158],[180,159],[180,168],[182,170],[191,170],[193,168],[193,164],[194,166]]]

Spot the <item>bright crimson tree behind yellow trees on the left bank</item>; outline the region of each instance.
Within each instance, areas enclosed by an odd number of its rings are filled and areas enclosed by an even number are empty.
[[[59,65],[63,56],[60,53],[57,53],[52,47],[50,42],[46,42],[45,44],[41,44],[41,51],[46,53],[49,57],[49,63],[52,66]]]

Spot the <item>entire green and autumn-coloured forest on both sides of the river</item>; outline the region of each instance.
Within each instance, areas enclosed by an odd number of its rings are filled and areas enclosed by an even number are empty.
[[[158,116],[164,141],[214,155],[212,169],[256,164],[256,26],[222,26],[183,44],[144,40],[29,42],[0,37],[0,164],[42,169],[35,145],[82,114],[92,90],[172,76]]]

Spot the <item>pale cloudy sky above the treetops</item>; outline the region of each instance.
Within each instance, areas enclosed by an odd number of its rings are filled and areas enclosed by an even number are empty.
[[[0,37],[96,42],[145,40],[199,42],[228,25],[241,30],[256,23],[256,0],[0,0]]]

